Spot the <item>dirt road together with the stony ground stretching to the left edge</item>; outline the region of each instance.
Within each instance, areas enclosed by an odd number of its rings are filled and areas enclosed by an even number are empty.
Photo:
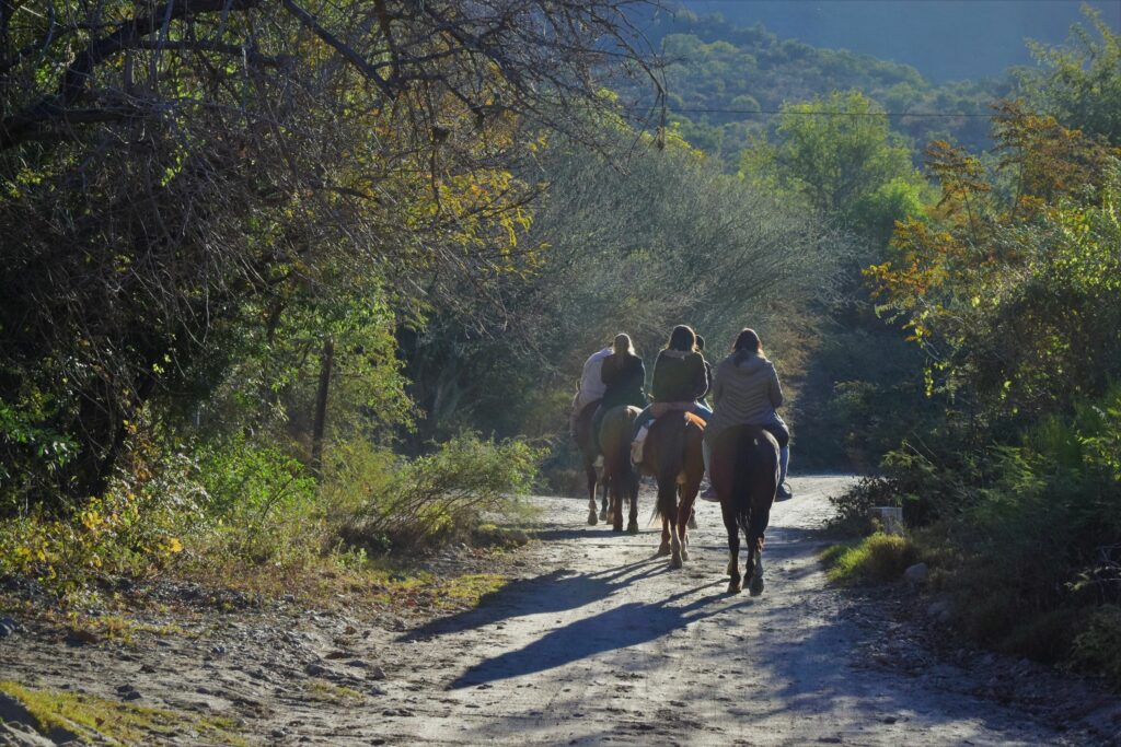
[[[470,611],[411,628],[315,610],[211,614],[182,623],[188,635],[123,648],[28,631],[0,642],[0,680],[223,715],[269,745],[1091,741],[1054,729],[1043,667],[1006,678],[1035,683],[1035,695],[1009,695],[990,681],[999,661],[962,652],[947,663],[872,610],[888,601],[826,587],[817,530],[844,484],[793,480],[759,598],[725,594],[714,504],[700,505],[692,559],[670,571],[652,557],[649,495],[637,536],[584,525],[581,501],[537,498],[541,542],[512,560],[521,578]],[[156,741],[209,739],[184,727],[145,744]]]

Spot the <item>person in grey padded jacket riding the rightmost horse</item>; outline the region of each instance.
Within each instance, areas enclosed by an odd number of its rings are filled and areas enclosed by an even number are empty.
[[[715,414],[705,429],[705,442],[711,447],[732,426],[767,430],[779,445],[778,497],[789,498],[793,494],[786,484],[786,470],[790,464],[790,430],[775,411],[782,404],[782,386],[754,329],[741,332],[731,355],[716,366],[712,400]]]

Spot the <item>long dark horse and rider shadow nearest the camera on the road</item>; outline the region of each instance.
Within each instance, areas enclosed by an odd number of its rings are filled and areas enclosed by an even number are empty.
[[[724,580],[711,581],[665,599],[627,603],[575,620],[549,631],[518,651],[471,666],[448,689],[458,690],[564,666],[603,652],[647,643],[684,629],[691,623],[754,604],[751,598],[741,598],[733,604],[714,605],[729,599],[724,592],[705,595],[683,606],[676,604],[684,597],[707,588],[723,587],[724,583]]]

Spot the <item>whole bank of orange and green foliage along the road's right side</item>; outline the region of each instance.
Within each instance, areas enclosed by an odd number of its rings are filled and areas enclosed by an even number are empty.
[[[868,270],[927,356],[933,412],[842,505],[890,491],[972,638],[1113,676],[1119,151],[1016,103],[993,124],[995,158],[932,144],[942,199]]]

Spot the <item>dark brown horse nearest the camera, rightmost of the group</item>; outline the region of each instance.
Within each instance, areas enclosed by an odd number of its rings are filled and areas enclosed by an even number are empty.
[[[778,441],[758,426],[733,426],[712,447],[712,486],[728,530],[728,592],[741,588],[740,530],[748,542],[744,577],[752,597],[763,592],[763,532],[778,489]]]

